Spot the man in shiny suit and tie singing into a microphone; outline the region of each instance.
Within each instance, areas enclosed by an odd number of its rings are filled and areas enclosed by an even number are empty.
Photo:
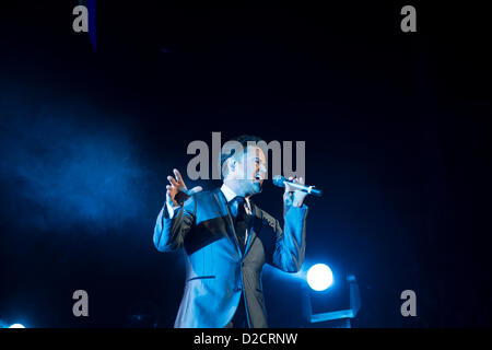
[[[284,225],[258,208],[266,156],[260,141],[243,136],[242,152],[221,154],[222,187],[187,189],[174,170],[166,202],[159,213],[154,245],[160,252],[184,248],[186,283],[176,317],[177,328],[268,327],[261,271],[268,262],[297,272],[304,260],[306,192],[285,184]],[[303,178],[292,179],[304,184]]]

